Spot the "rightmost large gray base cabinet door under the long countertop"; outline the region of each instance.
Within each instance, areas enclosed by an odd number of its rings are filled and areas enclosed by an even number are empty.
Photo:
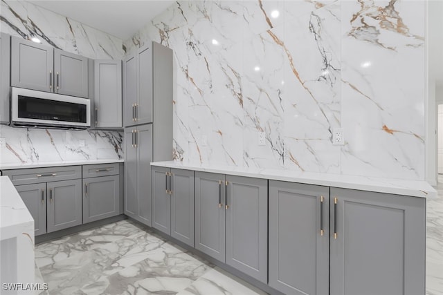
[[[331,188],[331,209],[330,294],[425,294],[426,199]]]

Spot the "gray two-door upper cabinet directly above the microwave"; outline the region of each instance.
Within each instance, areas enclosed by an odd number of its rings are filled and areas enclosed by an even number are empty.
[[[88,59],[13,36],[11,86],[88,97]]]

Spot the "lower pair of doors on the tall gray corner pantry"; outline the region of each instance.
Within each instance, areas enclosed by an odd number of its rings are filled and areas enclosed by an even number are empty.
[[[125,214],[152,226],[152,124],[125,129]]]

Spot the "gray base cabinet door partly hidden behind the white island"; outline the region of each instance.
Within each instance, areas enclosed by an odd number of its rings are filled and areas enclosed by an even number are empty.
[[[46,234],[46,183],[17,185],[15,189],[34,218],[35,236]]]

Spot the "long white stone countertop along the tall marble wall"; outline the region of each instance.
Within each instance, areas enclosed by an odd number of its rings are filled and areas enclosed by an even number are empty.
[[[201,165],[174,161],[152,162],[151,166],[315,184],[343,189],[357,189],[360,191],[374,191],[377,193],[392,193],[401,196],[413,196],[428,199],[437,198],[437,191],[435,191],[435,189],[433,189],[433,187],[431,187],[431,185],[426,181],[301,172],[284,169],[258,169],[215,164]]]

